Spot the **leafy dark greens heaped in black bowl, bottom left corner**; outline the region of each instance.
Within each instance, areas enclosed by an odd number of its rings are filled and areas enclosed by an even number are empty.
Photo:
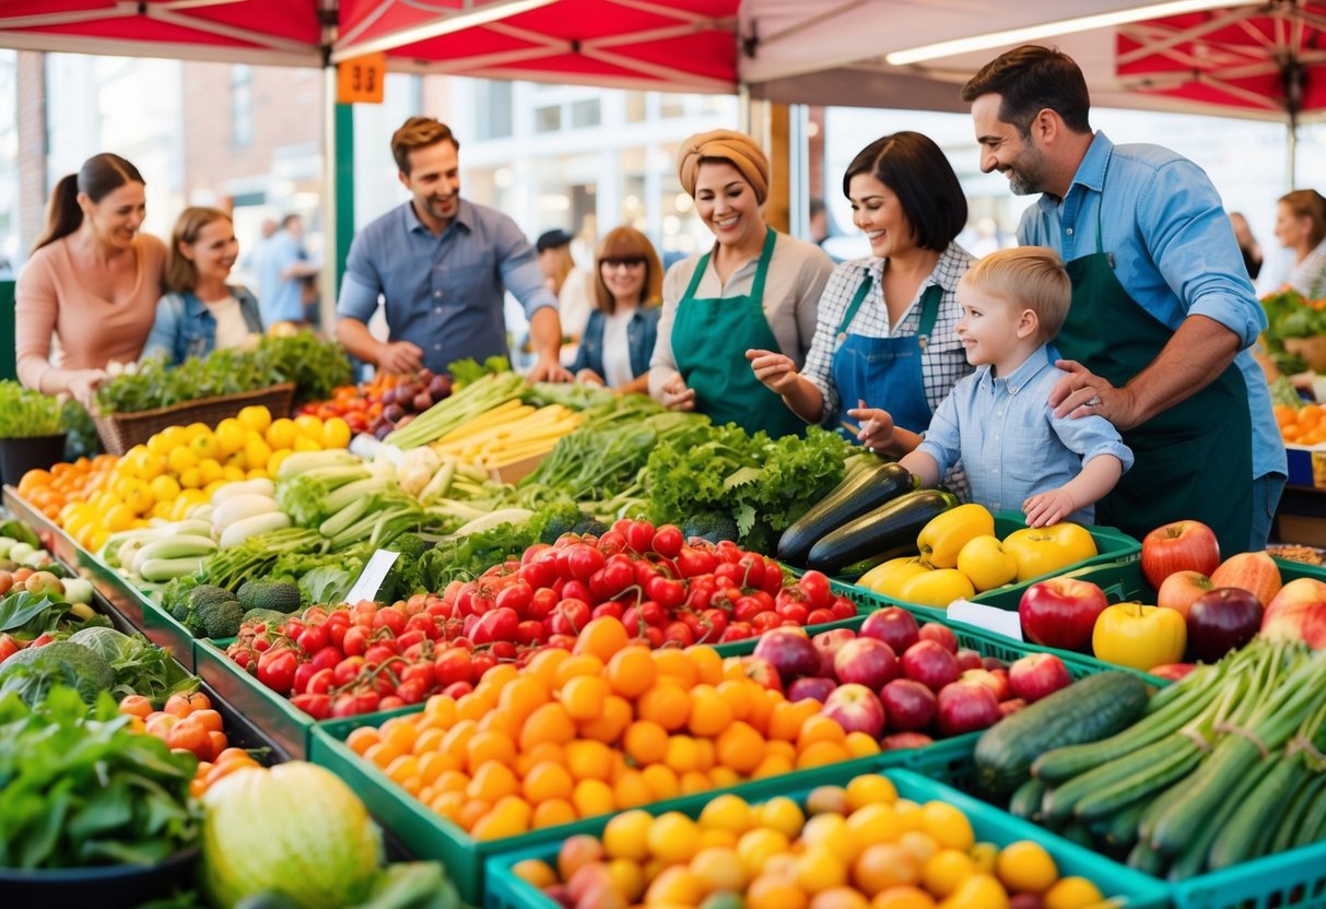
[[[152,865],[196,840],[198,759],[129,723],[105,692],[88,706],[56,686],[40,712],[0,698],[0,865]]]

